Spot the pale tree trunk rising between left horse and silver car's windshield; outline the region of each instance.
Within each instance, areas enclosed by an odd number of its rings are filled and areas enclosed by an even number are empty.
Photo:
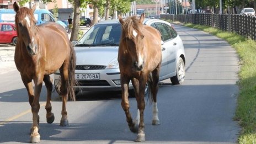
[[[79,34],[79,20],[80,20],[80,0],[74,0],[74,18],[73,18],[73,28],[71,32],[70,41],[77,41]]]

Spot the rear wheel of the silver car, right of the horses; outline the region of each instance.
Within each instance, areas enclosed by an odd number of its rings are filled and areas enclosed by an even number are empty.
[[[185,77],[185,64],[181,57],[179,57],[178,64],[176,67],[176,76],[171,77],[170,81],[173,84],[182,84]]]

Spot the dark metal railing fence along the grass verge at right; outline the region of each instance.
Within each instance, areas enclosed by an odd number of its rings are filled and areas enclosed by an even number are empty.
[[[161,14],[161,18],[170,19],[173,22],[200,24],[211,26],[256,40],[256,17],[241,14]]]

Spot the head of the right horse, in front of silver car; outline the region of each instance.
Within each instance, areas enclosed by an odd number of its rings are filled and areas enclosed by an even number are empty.
[[[123,20],[119,17],[119,22],[122,25],[122,47],[127,50],[131,56],[132,65],[136,71],[142,71],[145,66],[145,56],[144,52],[144,35],[143,31],[143,20],[145,19],[145,14],[143,13],[138,19],[136,16],[132,16]]]

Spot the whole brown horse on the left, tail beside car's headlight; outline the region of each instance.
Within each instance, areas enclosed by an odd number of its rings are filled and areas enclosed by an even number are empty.
[[[76,55],[70,40],[68,40],[67,32],[61,25],[56,23],[36,25],[35,6],[31,9],[19,8],[18,4],[14,2],[13,7],[16,12],[15,25],[18,32],[14,60],[28,91],[29,104],[33,113],[30,142],[36,143],[40,142],[38,112],[42,82],[45,82],[47,88],[45,109],[47,123],[50,124],[54,121],[54,114],[51,112],[52,79],[49,75],[58,69],[61,73],[60,94],[62,96],[60,125],[68,125],[66,102],[67,94],[70,99],[75,99],[73,86],[76,84],[74,79]]]

